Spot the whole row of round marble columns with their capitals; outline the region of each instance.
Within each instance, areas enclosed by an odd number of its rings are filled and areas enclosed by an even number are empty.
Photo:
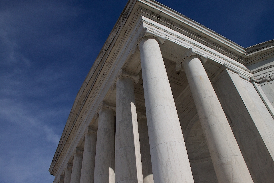
[[[134,83],[139,76],[120,70],[114,80],[116,106],[100,104],[98,131],[86,130],[84,150],[75,149],[71,173],[69,168],[65,171],[65,183],[70,175],[70,183],[194,183],[159,46],[165,39],[144,29],[138,45],[146,117],[141,113],[137,117],[135,106]],[[176,69],[186,72],[218,182],[252,183],[201,61],[206,62],[207,56],[190,48]]]

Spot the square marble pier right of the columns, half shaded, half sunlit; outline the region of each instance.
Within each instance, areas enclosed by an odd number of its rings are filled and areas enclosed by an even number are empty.
[[[271,121],[263,101],[254,86],[242,80],[238,74],[224,70],[215,85],[222,107],[233,125],[233,133],[245,161],[249,164],[249,172],[254,182],[273,182],[273,158],[271,156],[271,133],[261,115]],[[265,109],[265,110],[264,110]],[[261,111],[261,112],[260,112]],[[273,121],[273,118],[272,118]],[[265,177],[265,174],[269,174]]]

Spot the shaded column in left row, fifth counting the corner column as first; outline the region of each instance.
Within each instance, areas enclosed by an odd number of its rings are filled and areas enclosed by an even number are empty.
[[[83,160],[83,149],[75,148],[73,152],[73,164],[71,171],[70,183],[79,183],[81,177],[81,168]]]

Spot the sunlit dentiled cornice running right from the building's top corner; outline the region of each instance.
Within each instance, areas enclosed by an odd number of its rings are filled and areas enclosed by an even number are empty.
[[[180,23],[182,23],[182,25],[180,25],[179,23],[176,23],[174,21],[172,21],[171,19],[164,17],[163,15],[166,16],[170,16],[168,15],[168,12],[165,12],[165,14],[163,13],[164,11],[161,9],[161,13],[163,14],[158,14],[158,13],[154,13],[153,11],[146,9],[145,7],[142,6],[138,6],[139,11],[141,13],[142,16],[148,17],[156,22],[161,23],[162,25],[165,25],[167,27],[170,27],[173,30],[176,30],[179,33],[182,33],[183,35],[186,35],[204,45],[206,45],[207,47],[210,47],[240,63],[243,63],[244,65],[251,65],[257,61],[260,61],[262,59],[265,58],[270,58],[274,56],[274,48],[272,49],[272,47],[274,47],[274,42],[273,40],[264,42],[264,43],[260,43],[258,45],[254,45],[251,47],[246,48],[249,52],[248,54],[246,53],[246,49],[243,47],[240,47],[239,45],[237,45],[236,43],[233,43],[230,40],[225,40],[222,41],[226,38],[224,37],[220,37],[221,39],[218,39],[219,35],[212,36],[215,35],[217,33],[215,33],[214,31],[211,31],[210,29],[207,30],[207,32],[203,32],[203,34],[207,35],[208,37],[211,37],[210,39],[202,36],[202,30],[199,30],[199,27],[196,26],[195,28],[195,24],[196,22],[189,19],[188,18],[188,22],[193,23],[192,26],[193,30],[189,29],[188,27],[183,26],[185,24],[184,20],[185,19],[178,19],[178,21],[180,21]],[[178,12],[176,12],[178,13]],[[178,18],[178,17],[177,17]],[[186,18],[186,17],[184,17]],[[202,25],[201,25],[202,26]],[[204,27],[204,26],[203,26]],[[206,28],[206,27],[204,27]],[[208,28],[206,28],[208,29]],[[211,31],[211,33],[209,33],[209,31]],[[223,43],[222,43],[223,42]],[[220,44],[219,44],[220,43]],[[252,47],[256,47],[257,49],[253,49]],[[259,47],[259,48],[258,48]],[[236,48],[236,49],[235,49]],[[268,48],[268,49],[266,49]]]

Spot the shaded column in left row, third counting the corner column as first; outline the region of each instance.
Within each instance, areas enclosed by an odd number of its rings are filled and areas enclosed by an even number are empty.
[[[115,182],[115,106],[101,102],[98,108],[98,135],[94,183]]]

